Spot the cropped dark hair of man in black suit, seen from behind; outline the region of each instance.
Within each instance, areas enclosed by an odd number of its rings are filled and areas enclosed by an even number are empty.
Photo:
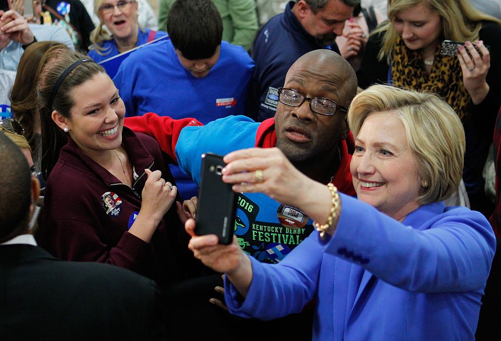
[[[31,171],[21,149],[0,131],[0,243],[28,230]]]

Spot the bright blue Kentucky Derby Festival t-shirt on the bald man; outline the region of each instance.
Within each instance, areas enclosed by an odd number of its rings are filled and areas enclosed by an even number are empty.
[[[198,184],[203,153],[225,155],[254,147],[259,125],[247,117],[230,116],[184,127],[175,149],[180,168]],[[243,251],[262,262],[280,262],[313,231],[304,212],[263,193],[239,193],[236,207],[233,233]]]

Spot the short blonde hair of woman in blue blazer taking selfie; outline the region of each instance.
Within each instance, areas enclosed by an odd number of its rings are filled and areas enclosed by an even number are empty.
[[[382,111],[395,112],[402,122],[418,174],[428,182],[418,202],[448,198],[461,181],[465,149],[464,129],[454,110],[432,93],[372,85],[355,96],[348,110],[354,136],[367,116]]]

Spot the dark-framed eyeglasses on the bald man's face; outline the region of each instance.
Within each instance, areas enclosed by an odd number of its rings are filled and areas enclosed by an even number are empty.
[[[290,106],[301,106],[305,100],[308,100],[310,109],[313,112],[325,116],[334,115],[338,109],[344,112],[348,111],[347,108],[339,105],[333,100],[322,97],[306,97],[298,90],[289,89],[287,87],[279,87],[279,100]]]

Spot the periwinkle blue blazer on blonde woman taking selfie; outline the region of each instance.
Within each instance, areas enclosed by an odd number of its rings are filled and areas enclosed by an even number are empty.
[[[231,313],[272,319],[314,299],[314,339],[473,340],[495,251],[483,215],[437,202],[400,223],[340,195],[330,240],[314,231],[276,265],[249,257],[243,301],[225,282]]]

